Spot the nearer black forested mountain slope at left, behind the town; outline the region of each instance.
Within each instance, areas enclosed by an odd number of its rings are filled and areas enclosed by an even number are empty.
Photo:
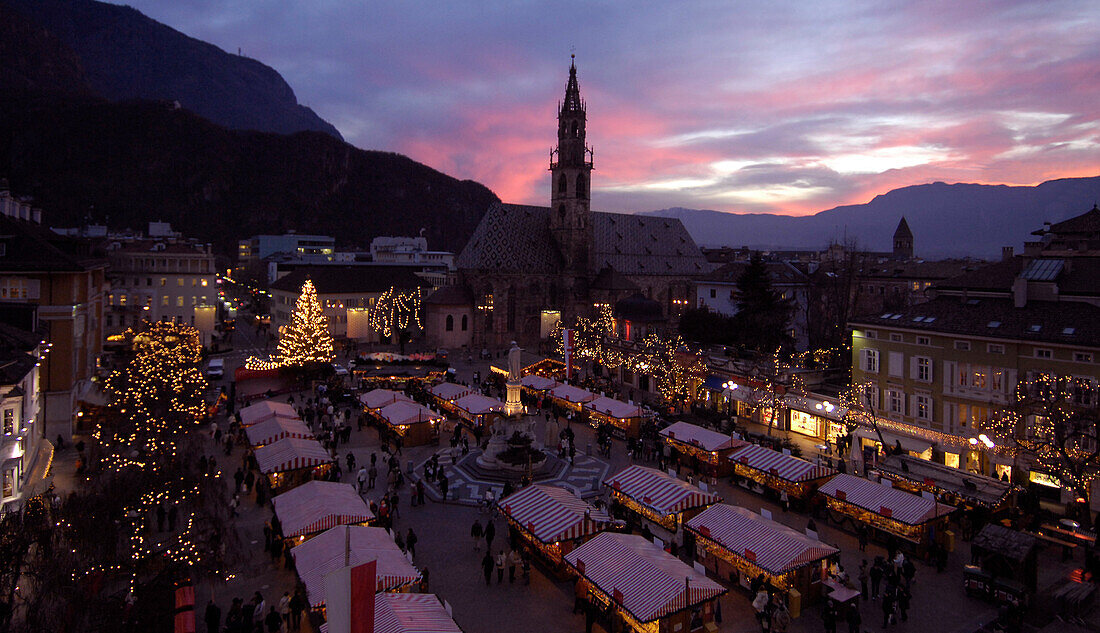
[[[328,233],[341,245],[425,236],[460,250],[484,186],[322,132],[227,130],[170,101],[91,94],[57,37],[0,3],[0,177],[48,226],[170,221],[222,253],[254,233]]]

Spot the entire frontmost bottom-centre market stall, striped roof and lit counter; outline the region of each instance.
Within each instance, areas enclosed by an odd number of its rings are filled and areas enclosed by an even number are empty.
[[[727,590],[641,536],[605,532],[565,555],[580,589],[598,611],[610,609],[608,631],[664,633],[714,622]]]

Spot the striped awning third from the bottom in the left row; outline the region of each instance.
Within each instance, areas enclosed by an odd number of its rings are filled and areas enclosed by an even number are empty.
[[[374,520],[363,498],[350,483],[309,481],[272,499],[283,536],[304,536],[337,525]]]

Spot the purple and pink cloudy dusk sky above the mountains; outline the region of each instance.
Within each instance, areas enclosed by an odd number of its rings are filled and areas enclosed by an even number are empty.
[[[1100,175],[1100,2],[129,0],[352,144],[546,204],[575,51],[593,207],[809,214]]]

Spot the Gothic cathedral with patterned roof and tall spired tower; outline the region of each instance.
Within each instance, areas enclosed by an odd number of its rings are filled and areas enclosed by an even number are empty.
[[[691,281],[711,266],[678,219],[592,210],[586,123],[572,63],[550,152],[550,205],[490,207],[455,260],[457,285],[425,302],[429,342],[534,346],[558,320],[600,304],[649,327],[673,326],[690,307]]]

